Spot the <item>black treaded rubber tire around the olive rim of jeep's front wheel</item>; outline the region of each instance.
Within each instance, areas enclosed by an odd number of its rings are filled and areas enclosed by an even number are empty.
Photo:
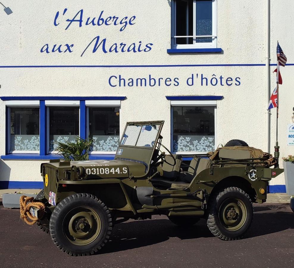
[[[96,201],[106,212],[107,214],[107,219],[108,219],[108,228],[107,228],[107,232],[104,236],[103,242],[96,247],[94,250],[88,251],[86,253],[73,253],[71,250],[66,250],[64,247],[62,247],[61,244],[59,244],[56,234],[55,234],[55,230],[54,230],[54,223],[56,222],[56,217],[57,214],[59,213],[59,211],[61,210],[62,207],[65,206],[65,204],[67,204],[67,201],[71,202],[71,201],[76,201],[76,200],[92,200],[92,201]],[[107,208],[107,206],[101,201],[99,200],[96,196],[92,195],[92,194],[73,194],[69,197],[66,197],[65,199],[63,199],[61,202],[58,203],[58,205],[55,207],[54,211],[52,212],[51,218],[50,218],[50,223],[49,223],[49,230],[50,230],[50,235],[51,235],[51,239],[53,240],[54,244],[63,252],[67,253],[68,255],[71,256],[89,256],[89,255],[93,255],[95,254],[98,250],[100,250],[102,247],[104,247],[104,245],[107,243],[107,241],[109,240],[110,234],[111,234],[111,230],[112,230],[112,218],[111,218],[111,214],[109,209]]]

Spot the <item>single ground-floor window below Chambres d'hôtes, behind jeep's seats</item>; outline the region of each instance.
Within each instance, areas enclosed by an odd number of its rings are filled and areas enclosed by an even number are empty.
[[[216,107],[172,107],[173,152],[215,150]]]

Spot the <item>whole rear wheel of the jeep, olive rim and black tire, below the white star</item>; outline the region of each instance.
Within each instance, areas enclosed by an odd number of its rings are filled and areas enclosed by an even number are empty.
[[[243,237],[253,219],[253,205],[248,194],[237,187],[229,187],[211,197],[207,226],[222,240]]]

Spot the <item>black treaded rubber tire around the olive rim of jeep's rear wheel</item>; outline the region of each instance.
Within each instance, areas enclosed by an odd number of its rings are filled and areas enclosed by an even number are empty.
[[[224,194],[228,193],[228,192],[239,192],[241,194],[243,194],[247,199],[248,201],[250,202],[250,206],[251,206],[251,209],[252,209],[252,218],[251,218],[251,222],[249,223],[248,225],[248,228],[247,230],[250,228],[251,226],[251,223],[252,223],[252,220],[253,220],[253,212],[254,212],[254,209],[253,209],[253,203],[251,201],[251,198],[249,197],[249,195],[243,191],[242,189],[238,188],[238,187],[228,187],[228,188],[225,188],[221,191],[219,191],[217,194],[215,194],[214,196],[211,196],[209,198],[210,200],[210,203],[209,203],[209,206],[207,208],[208,210],[208,217],[207,217],[207,227],[209,228],[210,232],[216,236],[217,238],[221,239],[221,240],[225,240],[225,241],[233,241],[233,240],[239,240],[243,237],[242,236],[237,236],[237,237],[228,237],[228,236],[225,236],[224,234],[222,234],[218,228],[218,226],[216,225],[216,222],[215,222],[215,217],[214,215],[216,213],[218,213],[216,211],[216,204],[218,202],[218,200],[220,199],[220,197],[222,197]]]

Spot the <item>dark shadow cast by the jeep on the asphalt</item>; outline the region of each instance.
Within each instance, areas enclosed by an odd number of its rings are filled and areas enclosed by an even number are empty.
[[[254,210],[254,221],[243,239],[294,229],[294,213],[288,204],[256,205]],[[207,238],[218,241],[208,230],[205,219],[185,228],[174,225],[168,219],[130,221],[115,225],[110,241],[98,254],[146,247],[172,238]]]

